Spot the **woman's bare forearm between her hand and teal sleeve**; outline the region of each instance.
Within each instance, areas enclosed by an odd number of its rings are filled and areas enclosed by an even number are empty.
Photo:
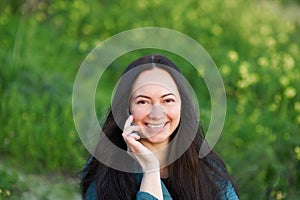
[[[163,200],[159,169],[154,172],[144,173],[140,191],[147,192],[157,199]]]

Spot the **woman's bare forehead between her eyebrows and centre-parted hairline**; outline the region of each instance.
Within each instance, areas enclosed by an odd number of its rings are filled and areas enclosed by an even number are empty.
[[[134,82],[132,91],[134,92],[141,88],[147,88],[151,85],[162,86],[178,94],[178,89],[172,76],[167,71],[159,68],[142,72]]]

